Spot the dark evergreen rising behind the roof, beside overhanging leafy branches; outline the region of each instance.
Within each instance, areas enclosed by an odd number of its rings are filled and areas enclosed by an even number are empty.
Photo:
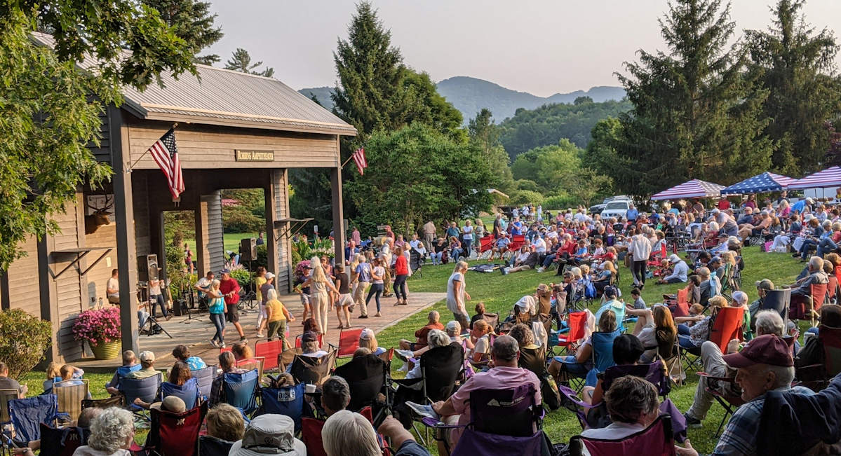
[[[221,27],[214,28],[216,14],[209,12],[210,3],[199,0],[143,0],[155,8],[172,33],[187,42],[193,49],[193,61],[213,65],[220,60],[217,54],[198,55],[204,48],[213,45],[225,34]]]

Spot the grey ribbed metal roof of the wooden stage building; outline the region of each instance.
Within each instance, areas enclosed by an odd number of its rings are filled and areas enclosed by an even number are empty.
[[[50,34],[32,35],[42,45],[50,48],[55,45]],[[86,57],[79,66],[93,70],[98,62]],[[197,65],[196,70],[198,78],[188,73],[177,79],[161,75],[162,88],[156,84],[143,92],[134,87],[124,88],[124,107],[150,120],[357,134],[351,124],[277,79],[206,65]]]

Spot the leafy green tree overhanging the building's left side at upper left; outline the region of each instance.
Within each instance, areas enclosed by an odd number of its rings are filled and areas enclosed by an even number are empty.
[[[55,50],[34,45],[36,24],[55,31]],[[0,43],[2,270],[30,235],[59,231],[49,214],[64,211],[78,186],[108,178],[110,168],[87,149],[98,143],[103,103],[121,102],[123,86],[160,82],[162,71],[195,68],[189,45],[156,10],[127,0],[96,8],[67,0],[9,3],[0,8]],[[99,61],[98,71],[78,70],[85,56]]]

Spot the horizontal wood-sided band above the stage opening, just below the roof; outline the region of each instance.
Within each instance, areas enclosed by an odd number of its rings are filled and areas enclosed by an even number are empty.
[[[129,128],[131,163],[135,169],[157,169],[145,151],[170,128],[169,123],[144,122]],[[294,134],[267,130],[179,125],[175,130],[183,169],[211,168],[326,168],[336,167],[339,150],[336,136]],[[271,150],[273,162],[236,161],[235,149]],[[142,158],[141,158],[142,156]]]

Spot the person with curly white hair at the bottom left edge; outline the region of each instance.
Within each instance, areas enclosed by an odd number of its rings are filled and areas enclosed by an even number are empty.
[[[73,456],[130,456],[135,439],[135,420],[130,411],[105,409],[91,422],[87,445],[76,448]]]

